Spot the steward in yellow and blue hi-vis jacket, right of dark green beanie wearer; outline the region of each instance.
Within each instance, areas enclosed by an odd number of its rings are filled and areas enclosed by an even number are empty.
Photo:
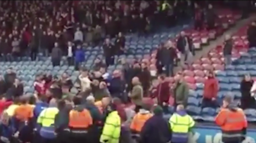
[[[169,119],[172,130],[172,143],[187,143],[188,133],[194,127],[193,118],[186,113],[183,105],[177,106],[177,111]]]

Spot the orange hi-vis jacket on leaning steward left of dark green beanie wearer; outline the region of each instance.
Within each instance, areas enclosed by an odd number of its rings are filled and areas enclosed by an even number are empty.
[[[132,131],[135,131],[136,133],[139,133],[146,123],[146,121],[151,118],[153,115],[151,113],[137,113],[132,120],[132,123],[130,125],[130,129]]]

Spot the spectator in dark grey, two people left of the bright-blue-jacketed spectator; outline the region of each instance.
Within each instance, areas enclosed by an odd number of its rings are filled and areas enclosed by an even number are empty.
[[[52,49],[52,66],[60,66],[61,58],[62,58],[62,50],[59,48],[58,43],[54,44],[54,48]]]

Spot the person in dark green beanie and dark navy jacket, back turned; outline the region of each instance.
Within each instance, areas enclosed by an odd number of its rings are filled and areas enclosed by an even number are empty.
[[[162,107],[157,105],[153,112],[140,132],[140,143],[167,143],[171,140],[170,124],[163,117]]]

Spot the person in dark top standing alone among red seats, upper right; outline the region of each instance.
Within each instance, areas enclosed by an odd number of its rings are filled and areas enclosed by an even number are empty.
[[[230,65],[232,63],[232,48],[233,42],[230,35],[225,36],[223,55],[225,58],[225,65]]]

